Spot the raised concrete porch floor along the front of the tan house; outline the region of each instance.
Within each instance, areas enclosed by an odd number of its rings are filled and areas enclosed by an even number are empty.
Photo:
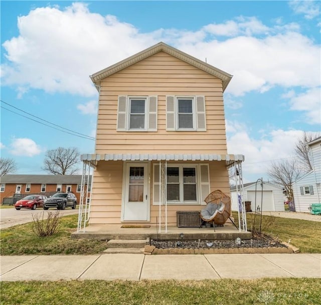
[[[159,230],[159,227],[150,228],[121,228],[121,224],[118,225],[103,225],[94,226],[90,225],[85,228],[85,231],[73,232],[72,238],[86,238],[86,239],[181,239],[181,233],[183,233],[183,239],[235,239],[240,237],[241,239],[250,239],[252,237],[251,232],[239,232],[239,230],[231,223],[226,223],[224,227],[214,228],[198,228],[198,227],[177,227],[169,226],[167,231],[165,227]]]

